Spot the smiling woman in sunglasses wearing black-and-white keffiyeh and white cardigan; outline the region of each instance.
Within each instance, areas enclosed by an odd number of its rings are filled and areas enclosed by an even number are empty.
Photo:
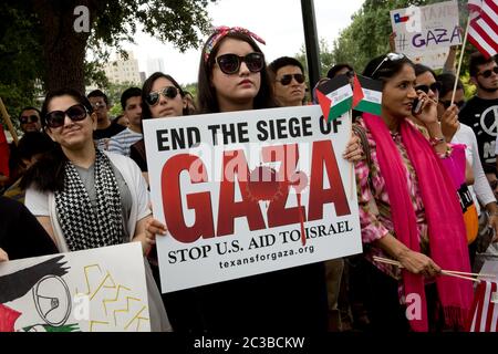
[[[152,219],[146,183],[129,158],[95,148],[91,112],[89,100],[74,90],[46,95],[42,124],[56,145],[25,174],[25,205],[61,252],[137,241],[145,254],[155,243],[145,230]],[[145,264],[151,326],[167,331],[166,311]]]

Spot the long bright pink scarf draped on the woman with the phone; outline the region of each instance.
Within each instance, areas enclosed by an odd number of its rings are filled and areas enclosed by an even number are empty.
[[[406,166],[384,121],[372,114],[363,114],[363,118],[376,142],[378,165],[385,179],[396,238],[413,251],[419,252],[415,210],[406,187]],[[427,139],[406,121],[401,123],[401,136],[415,168],[425,207],[429,257],[442,269],[469,272],[466,230],[452,177]],[[403,271],[403,283],[405,298],[417,293],[422,299],[422,319],[409,320],[412,330],[428,331],[424,277]],[[436,278],[436,285],[445,323],[464,329],[473,299],[471,282],[440,275]]]

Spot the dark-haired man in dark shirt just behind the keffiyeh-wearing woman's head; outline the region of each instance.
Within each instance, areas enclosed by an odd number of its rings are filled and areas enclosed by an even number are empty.
[[[100,149],[108,149],[108,140],[112,136],[125,129],[124,126],[112,123],[108,116],[111,105],[105,93],[101,90],[94,90],[89,93],[89,101],[97,115],[97,128],[93,132],[93,139]]]

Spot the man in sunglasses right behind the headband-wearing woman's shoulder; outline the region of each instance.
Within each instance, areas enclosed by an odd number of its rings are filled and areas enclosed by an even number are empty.
[[[293,58],[281,56],[268,65],[273,79],[274,97],[280,106],[301,106],[307,90],[304,69]]]

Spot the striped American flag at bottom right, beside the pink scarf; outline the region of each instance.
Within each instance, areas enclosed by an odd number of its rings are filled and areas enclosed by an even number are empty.
[[[470,310],[469,332],[497,332],[498,291],[494,281],[481,281]]]

